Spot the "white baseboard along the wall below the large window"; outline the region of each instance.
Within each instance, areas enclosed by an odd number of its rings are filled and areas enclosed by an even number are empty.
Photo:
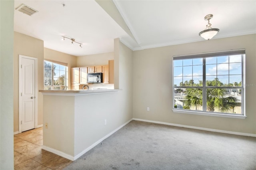
[[[211,131],[211,132],[220,132],[220,133],[236,134],[236,135],[241,135],[241,136],[256,137],[256,134],[251,134],[251,133],[232,132],[232,131],[218,130],[218,129],[212,129],[212,128],[193,127],[193,126],[187,126],[187,125],[180,125],[180,124],[166,123],[166,122],[158,122],[158,121],[150,121],[150,120],[136,119],[136,118],[133,118],[132,120],[134,120],[134,121],[150,122],[150,123],[158,123],[158,124],[162,124],[162,125],[170,125],[170,126],[176,126],[176,127],[193,128],[193,129],[206,130],[206,131]]]

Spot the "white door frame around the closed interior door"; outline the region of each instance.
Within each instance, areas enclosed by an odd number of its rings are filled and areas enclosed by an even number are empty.
[[[35,61],[35,128],[37,128],[37,102],[38,102],[38,86],[37,86],[37,58],[35,57],[29,57],[26,55],[19,55],[19,133],[22,132],[22,103],[21,103],[21,91],[22,91],[22,86],[21,86],[21,80],[22,80],[22,70],[21,70],[21,63],[22,63],[22,58],[26,59],[33,59]]]

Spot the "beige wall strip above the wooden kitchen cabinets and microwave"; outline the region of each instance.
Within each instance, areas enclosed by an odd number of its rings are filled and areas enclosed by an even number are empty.
[[[114,52],[84,55],[77,57],[76,66],[108,65],[108,60],[112,59],[114,59]]]

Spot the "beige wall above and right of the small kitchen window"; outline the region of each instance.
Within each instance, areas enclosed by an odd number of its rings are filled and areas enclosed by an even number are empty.
[[[44,48],[44,59],[68,64],[68,89],[71,89],[71,68],[76,67],[76,56]]]

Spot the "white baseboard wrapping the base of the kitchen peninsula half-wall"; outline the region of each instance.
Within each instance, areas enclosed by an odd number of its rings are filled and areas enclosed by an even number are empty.
[[[115,130],[113,130],[112,132],[110,132],[109,134],[107,134],[106,136],[104,136],[103,138],[99,139],[98,141],[94,142],[94,144],[92,144],[91,146],[89,146],[88,148],[86,148],[85,150],[83,150],[82,152],[80,152],[79,154],[77,154],[76,156],[72,156],[69,154],[66,154],[64,152],[61,152],[59,150],[50,148],[48,146],[42,146],[42,149],[47,150],[49,152],[52,152],[54,154],[57,154],[59,156],[62,156],[64,158],[67,158],[69,160],[76,160],[77,158],[79,158],[80,156],[82,156],[83,154],[85,154],[86,152],[88,152],[90,149],[92,149],[94,146],[96,146],[97,144],[99,144],[100,142],[102,142],[104,139],[108,138],[110,135],[112,135],[114,132],[116,132],[117,130],[119,130],[120,128],[124,127],[125,125],[127,125],[130,121],[132,121],[132,119],[130,119],[129,121],[127,121],[126,123],[124,123],[123,125],[121,125],[120,127],[116,128]]]

